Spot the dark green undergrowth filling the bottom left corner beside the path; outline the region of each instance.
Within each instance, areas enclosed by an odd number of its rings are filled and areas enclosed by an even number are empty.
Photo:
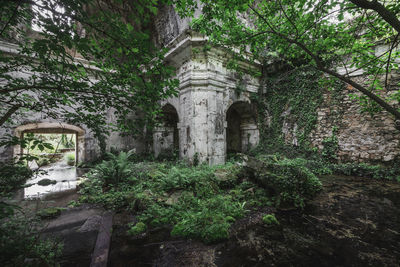
[[[57,266],[62,243],[41,238],[43,223],[10,204],[32,172],[26,165],[0,165],[0,262],[2,266]]]

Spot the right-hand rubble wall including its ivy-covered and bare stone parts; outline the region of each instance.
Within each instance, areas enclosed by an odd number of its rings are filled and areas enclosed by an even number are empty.
[[[355,89],[307,68],[269,73],[264,81],[254,96],[260,116],[258,149],[319,152],[341,162],[400,160],[400,132],[393,118],[384,111],[363,112]]]

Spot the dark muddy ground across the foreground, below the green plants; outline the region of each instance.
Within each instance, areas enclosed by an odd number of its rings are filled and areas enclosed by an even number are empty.
[[[219,244],[172,239],[161,228],[129,237],[132,218],[116,215],[109,266],[400,266],[400,184],[321,180],[323,191],[304,211],[253,212]],[[271,212],[279,225],[262,222]]]

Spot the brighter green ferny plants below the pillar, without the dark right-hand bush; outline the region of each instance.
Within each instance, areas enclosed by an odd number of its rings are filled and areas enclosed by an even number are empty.
[[[228,237],[230,225],[247,209],[272,204],[262,188],[250,181],[239,182],[241,168],[232,163],[188,167],[141,162],[129,169],[129,178],[108,188],[100,173],[89,174],[81,185],[80,201],[135,212],[137,222],[131,234],[142,232],[142,224],[136,227],[139,223],[170,225],[174,236],[216,242]]]

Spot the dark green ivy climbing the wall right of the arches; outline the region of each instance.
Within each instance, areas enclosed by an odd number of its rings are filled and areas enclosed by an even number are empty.
[[[262,93],[253,95],[260,116],[261,144],[257,149],[266,152],[293,149],[285,143],[282,133],[286,120],[297,124],[293,133],[297,138],[295,149],[312,152],[310,137],[317,125],[318,108],[324,102],[324,93],[330,94],[329,121],[336,126],[342,114],[343,88],[340,81],[327,79],[321,72],[309,67],[268,75],[260,89]]]

